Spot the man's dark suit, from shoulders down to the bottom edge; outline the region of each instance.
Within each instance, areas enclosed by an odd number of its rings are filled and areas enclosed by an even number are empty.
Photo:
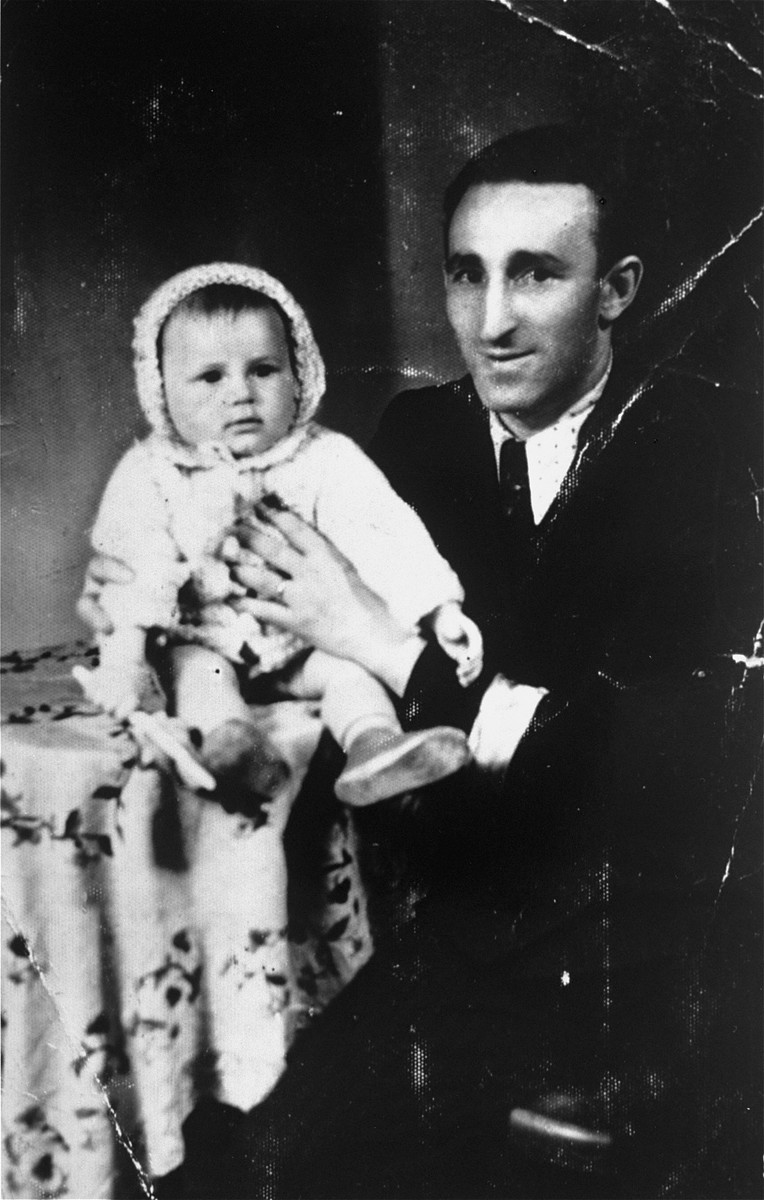
[[[468,769],[413,812],[359,810],[381,823],[367,846],[403,827],[429,852],[427,898],[411,918],[392,889],[393,932],[193,1194],[272,1188],[255,1175],[273,1130],[283,1196],[756,1194],[760,1002],[740,966],[760,911],[742,902],[759,725],[729,655],[759,620],[757,443],[736,407],[614,374],[523,547],[470,380],[392,402],[372,452],[459,572],[488,658],[465,692],[428,647],[407,719],[469,727],[495,671],[549,695],[498,785]],[[507,1138],[518,1109],[612,1146]]]

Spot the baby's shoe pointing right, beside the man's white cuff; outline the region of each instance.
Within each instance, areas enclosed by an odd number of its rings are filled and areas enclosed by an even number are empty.
[[[348,749],[335,793],[345,804],[377,804],[445,779],[469,760],[467,736],[450,726],[416,733],[389,726],[366,730]]]

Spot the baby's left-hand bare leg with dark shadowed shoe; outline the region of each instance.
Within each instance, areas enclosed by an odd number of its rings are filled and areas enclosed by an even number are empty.
[[[248,811],[287,781],[289,768],[259,732],[233,664],[205,646],[172,650],[175,713],[199,731],[199,756],[215,775],[215,798]]]

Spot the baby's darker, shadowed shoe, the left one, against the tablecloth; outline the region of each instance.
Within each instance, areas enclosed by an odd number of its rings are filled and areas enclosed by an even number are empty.
[[[210,799],[227,812],[260,814],[289,779],[289,767],[254,725],[231,719],[203,738],[199,757],[215,776]]]

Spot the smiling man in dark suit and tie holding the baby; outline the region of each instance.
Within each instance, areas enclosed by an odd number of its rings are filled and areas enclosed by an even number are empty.
[[[255,612],[374,670],[413,724],[471,728],[476,766],[411,818],[415,919],[272,1097],[216,1126],[212,1176],[193,1150],[219,1114],[191,1118],[191,1194],[752,1186],[730,655],[758,622],[756,512],[734,397],[613,358],[643,268],[590,145],[510,134],[457,176],[446,306],[470,373],[398,397],[372,446],[464,582],[482,679],[459,689],[290,514],[269,510],[289,545],[253,533],[266,565],[240,566]]]

